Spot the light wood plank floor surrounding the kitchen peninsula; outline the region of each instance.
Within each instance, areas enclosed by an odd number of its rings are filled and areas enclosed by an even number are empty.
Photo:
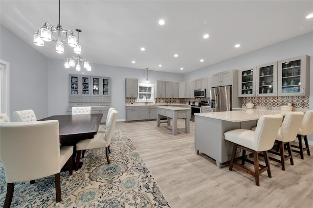
[[[184,128],[183,119],[178,124]],[[301,160],[292,152],[294,166],[287,161],[286,171],[270,161],[272,178],[263,172],[257,187],[253,176],[195,153],[194,122],[189,134],[176,136],[155,120],[117,122],[115,129],[127,130],[172,208],[313,208],[313,155]]]

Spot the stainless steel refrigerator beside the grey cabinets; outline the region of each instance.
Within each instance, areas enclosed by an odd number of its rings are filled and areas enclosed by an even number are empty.
[[[210,112],[231,111],[232,86],[212,87],[210,90]]]

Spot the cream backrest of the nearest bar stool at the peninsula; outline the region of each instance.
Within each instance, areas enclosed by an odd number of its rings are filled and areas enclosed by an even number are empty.
[[[260,117],[254,132],[255,151],[268,151],[273,147],[282,120],[281,114]]]

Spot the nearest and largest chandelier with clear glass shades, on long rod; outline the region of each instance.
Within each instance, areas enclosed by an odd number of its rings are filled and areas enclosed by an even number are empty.
[[[63,30],[60,25],[60,1],[59,0],[59,24],[57,27],[53,27],[50,23],[45,22],[42,28],[38,29],[38,31],[34,35],[34,44],[38,46],[44,46],[45,41],[56,42],[55,51],[59,54],[64,53],[64,44],[67,44],[74,48],[74,53],[81,53],[81,46],[72,30]],[[66,43],[67,40],[67,43]]]

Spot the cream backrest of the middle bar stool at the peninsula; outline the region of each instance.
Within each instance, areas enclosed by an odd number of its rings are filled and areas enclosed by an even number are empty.
[[[303,117],[303,112],[287,113],[276,139],[282,142],[294,141],[299,132]]]

